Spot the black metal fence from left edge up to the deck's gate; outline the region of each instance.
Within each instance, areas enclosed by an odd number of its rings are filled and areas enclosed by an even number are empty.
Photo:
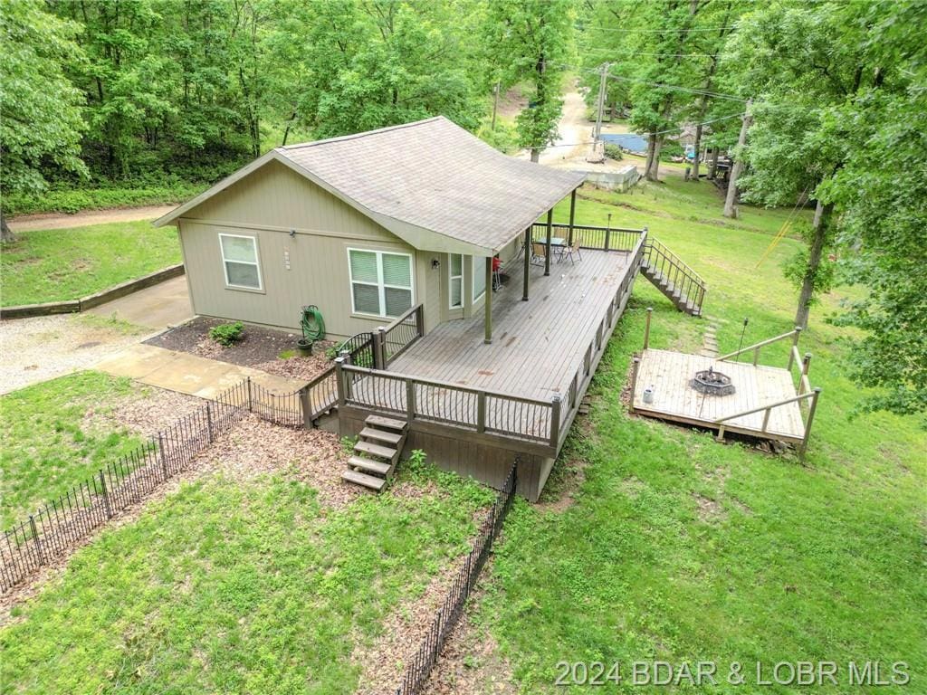
[[[232,386],[6,530],[0,539],[0,592],[186,470],[197,454],[249,412],[276,424],[303,423],[299,392],[277,396],[250,379]]]

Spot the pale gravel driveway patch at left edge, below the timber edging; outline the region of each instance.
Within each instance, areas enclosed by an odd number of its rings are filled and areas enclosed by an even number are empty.
[[[0,322],[0,393],[87,369],[145,338],[82,314]]]

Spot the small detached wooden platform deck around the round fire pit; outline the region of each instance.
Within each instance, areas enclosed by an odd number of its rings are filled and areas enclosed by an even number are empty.
[[[705,396],[692,389],[692,376],[714,367],[730,376],[736,392],[730,396]],[[643,402],[643,390],[654,387],[654,402]],[[798,394],[790,370],[751,363],[718,361],[710,357],[669,350],[645,349],[641,354],[634,389],[634,411],[641,415],[718,429],[717,419],[762,408]],[[764,411],[728,420],[724,429],[764,439],[801,443],[805,422],[799,403],[791,402],[769,411],[763,427]]]

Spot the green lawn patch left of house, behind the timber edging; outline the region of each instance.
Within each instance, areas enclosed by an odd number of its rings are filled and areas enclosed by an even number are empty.
[[[180,261],[177,231],[148,221],[21,232],[0,254],[2,303],[77,299]]]

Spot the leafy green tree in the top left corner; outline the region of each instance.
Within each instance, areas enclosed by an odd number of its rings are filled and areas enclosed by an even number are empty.
[[[44,190],[44,165],[86,172],[80,158],[83,96],[65,76],[65,61],[83,59],[74,43],[80,26],[58,19],[39,0],[6,3],[0,11],[0,191]],[[0,212],[2,240],[13,234]]]

